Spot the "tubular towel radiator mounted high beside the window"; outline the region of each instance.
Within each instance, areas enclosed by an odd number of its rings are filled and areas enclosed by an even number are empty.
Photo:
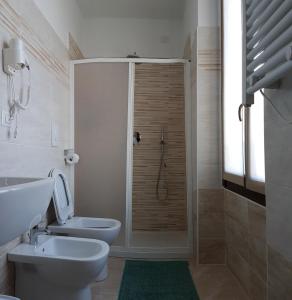
[[[274,86],[292,70],[292,0],[243,0],[246,97]]]

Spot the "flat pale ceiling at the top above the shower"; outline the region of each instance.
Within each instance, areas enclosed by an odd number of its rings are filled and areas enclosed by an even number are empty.
[[[180,19],[185,0],[77,0],[84,17]]]

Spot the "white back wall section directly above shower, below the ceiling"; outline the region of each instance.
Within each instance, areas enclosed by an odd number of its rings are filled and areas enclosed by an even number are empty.
[[[85,57],[181,56],[181,21],[88,18],[82,24],[79,46]]]

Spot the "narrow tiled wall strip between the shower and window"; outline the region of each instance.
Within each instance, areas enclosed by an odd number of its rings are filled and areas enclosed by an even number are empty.
[[[216,259],[217,263],[222,263],[225,260],[225,251],[221,243],[225,238],[223,195],[220,191],[222,178],[219,125],[221,70],[219,41],[219,28],[198,28],[194,43],[197,51],[193,51],[196,53],[194,57],[196,68],[193,69],[192,84],[196,90],[197,172],[195,178],[199,189],[197,220],[201,263],[204,261],[216,263]],[[214,253],[212,254],[216,244],[221,249],[217,257]]]

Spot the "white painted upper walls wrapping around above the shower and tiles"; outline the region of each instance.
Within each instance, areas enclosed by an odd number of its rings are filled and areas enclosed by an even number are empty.
[[[87,58],[125,57],[133,52],[141,57],[181,57],[189,29],[196,28],[196,1],[187,0],[186,21],[179,21],[83,18],[76,0],[34,0],[66,47],[71,32]]]

